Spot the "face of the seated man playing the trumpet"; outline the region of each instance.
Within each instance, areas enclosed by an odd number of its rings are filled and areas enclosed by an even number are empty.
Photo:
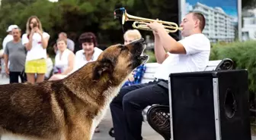
[[[187,14],[182,20],[180,26],[183,28],[181,35],[184,37],[190,36],[196,26],[196,20],[194,20],[193,14]]]

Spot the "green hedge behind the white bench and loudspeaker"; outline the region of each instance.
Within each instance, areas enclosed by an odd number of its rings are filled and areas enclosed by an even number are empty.
[[[230,58],[236,70],[248,70],[251,106],[256,108],[256,41],[218,43],[211,48],[210,60]]]

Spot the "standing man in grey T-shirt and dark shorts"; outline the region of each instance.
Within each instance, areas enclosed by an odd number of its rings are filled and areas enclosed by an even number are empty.
[[[13,40],[8,42],[5,47],[5,72],[9,74],[10,83],[18,82],[20,76],[21,82],[24,82],[24,65],[26,61],[26,48],[21,43],[21,30],[17,27],[11,31]],[[8,61],[10,65],[8,67]]]

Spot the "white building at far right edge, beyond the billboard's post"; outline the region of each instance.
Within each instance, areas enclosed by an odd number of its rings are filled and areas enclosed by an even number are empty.
[[[243,17],[242,40],[256,39],[256,17]]]

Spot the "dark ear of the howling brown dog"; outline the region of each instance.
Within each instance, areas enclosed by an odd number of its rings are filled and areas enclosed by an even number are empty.
[[[98,81],[102,76],[112,76],[114,65],[110,60],[98,61],[94,67],[92,80]]]

